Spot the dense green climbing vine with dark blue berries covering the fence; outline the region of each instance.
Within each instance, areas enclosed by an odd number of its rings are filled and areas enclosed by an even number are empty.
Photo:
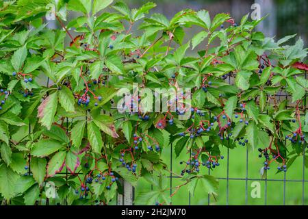
[[[168,205],[184,185],[192,194],[201,187],[218,195],[218,181],[206,173],[223,168],[222,147],[259,150],[264,174],[287,171],[305,155],[303,40],[268,38],[254,31],[262,19],[249,21],[248,14],[234,21],[188,9],[169,20],[152,8],[1,1],[3,204],[105,205],[123,192],[120,179],[136,185],[143,178],[153,190],[136,203]],[[48,28],[47,13],[60,28]],[[187,39],[195,26],[198,34]],[[175,96],[162,99],[166,110],[157,112],[151,95],[134,87]],[[170,144],[176,156],[188,153],[177,164],[181,172],[161,159]],[[170,173],[181,184],[169,196]]]

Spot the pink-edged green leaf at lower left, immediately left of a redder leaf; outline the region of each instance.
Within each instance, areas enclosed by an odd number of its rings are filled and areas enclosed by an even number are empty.
[[[53,155],[47,164],[47,177],[53,177],[57,172],[61,172],[65,164],[66,152],[60,151]]]

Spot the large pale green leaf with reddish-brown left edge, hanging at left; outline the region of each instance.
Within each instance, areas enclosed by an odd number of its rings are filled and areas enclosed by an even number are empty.
[[[38,118],[40,118],[40,123],[47,127],[47,129],[50,129],[53,124],[56,110],[57,92],[54,92],[47,96],[47,98],[38,106]]]

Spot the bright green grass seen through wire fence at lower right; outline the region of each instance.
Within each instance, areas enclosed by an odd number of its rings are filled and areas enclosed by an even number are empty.
[[[220,166],[216,167],[214,171],[211,171],[211,175],[214,177],[227,177],[227,149],[222,148],[222,155],[224,159],[220,160]],[[248,151],[248,178],[261,179],[259,173],[264,158],[258,157],[257,150]],[[187,161],[189,154],[182,151],[181,155],[175,158],[173,150],[172,168],[173,172],[180,173],[183,165],[179,162]],[[170,167],[170,146],[164,147],[162,151],[162,159]],[[271,169],[268,170],[268,179],[283,179],[283,172],[276,174],[277,164],[271,164]],[[202,174],[207,174],[208,170],[205,166],[201,168]],[[167,174],[168,175],[168,174]],[[229,178],[244,178],[246,179],[246,147],[238,146],[235,149],[229,150]],[[294,164],[287,170],[286,179],[303,180],[303,156],[298,157]],[[305,179],[308,179],[308,170],[305,169]],[[265,181],[259,181],[261,185],[261,197],[252,198],[251,183],[248,181],[248,205],[283,205],[283,181],[267,181],[267,197],[265,196]],[[170,185],[170,179],[168,179],[168,185]],[[179,185],[180,179],[172,179],[172,187]],[[187,185],[180,188],[180,190],[172,197],[172,205],[188,205],[189,193]],[[140,179],[136,186],[136,193],[141,191],[150,191],[151,184]],[[155,190],[155,188],[154,188]],[[229,179],[229,205],[245,205],[245,190],[246,181]],[[169,191],[166,192],[169,194]],[[194,196],[190,198],[191,205],[227,205],[227,181],[225,179],[219,180],[218,198],[215,201],[213,197],[210,198],[208,203],[207,193],[200,188],[196,188]],[[285,205],[303,205],[303,183],[302,182],[286,182],[285,183]],[[308,204],[308,182],[305,183],[304,190],[305,205]],[[265,199],[267,198],[267,200]],[[153,203],[154,204],[154,203]]]

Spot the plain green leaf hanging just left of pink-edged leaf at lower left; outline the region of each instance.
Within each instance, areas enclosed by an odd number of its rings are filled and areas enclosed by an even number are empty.
[[[31,157],[31,172],[38,184],[42,184],[46,176],[47,161],[45,158]]]

